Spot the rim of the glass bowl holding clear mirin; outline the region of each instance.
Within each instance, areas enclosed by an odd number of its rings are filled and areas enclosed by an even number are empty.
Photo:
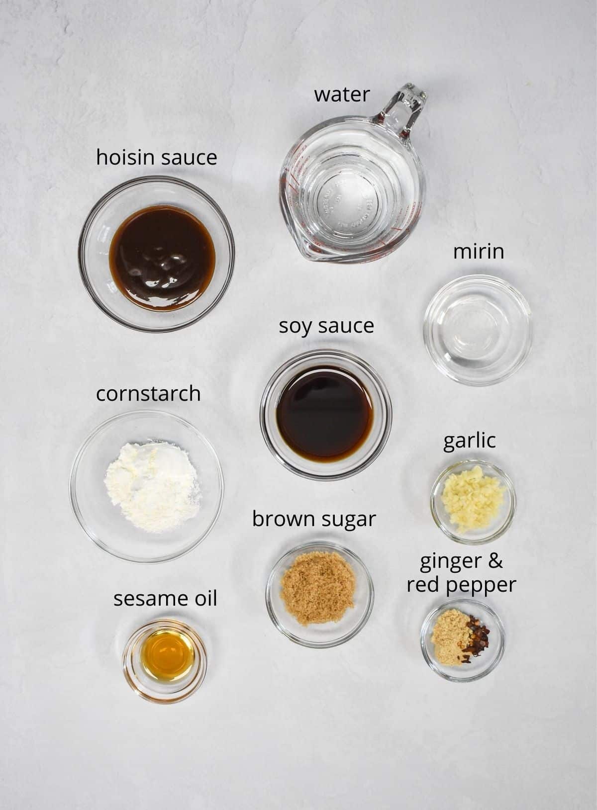
[[[518,358],[516,363],[514,363],[510,369],[507,369],[504,373],[501,373],[498,377],[494,377],[490,380],[463,380],[461,377],[458,376],[454,370],[450,369],[450,367],[446,366],[441,362],[440,356],[437,354],[433,347],[433,342],[431,339],[431,328],[430,328],[430,318],[432,309],[435,305],[437,305],[437,301],[439,300],[440,296],[443,296],[450,290],[450,288],[454,288],[461,283],[471,282],[471,281],[481,281],[483,283],[491,283],[501,288],[505,291],[509,296],[514,298],[514,301],[520,307],[522,313],[525,315],[526,322],[527,322],[527,342],[524,348],[524,352]],[[470,273],[468,275],[460,275],[457,279],[452,279],[448,283],[444,284],[443,287],[439,288],[429,304],[427,305],[427,309],[425,309],[424,318],[423,318],[423,343],[425,348],[427,349],[427,353],[431,358],[433,365],[440,371],[445,377],[449,377],[450,380],[454,380],[454,382],[459,382],[463,386],[472,386],[475,388],[483,388],[487,386],[495,386],[498,382],[503,382],[507,380],[508,377],[511,377],[512,374],[518,371],[522,364],[527,360],[527,357],[531,353],[531,348],[533,346],[533,316],[531,312],[531,307],[528,304],[527,299],[522,295],[517,288],[515,288],[512,284],[505,281],[505,279],[501,279],[497,275],[489,275],[488,273]]]

